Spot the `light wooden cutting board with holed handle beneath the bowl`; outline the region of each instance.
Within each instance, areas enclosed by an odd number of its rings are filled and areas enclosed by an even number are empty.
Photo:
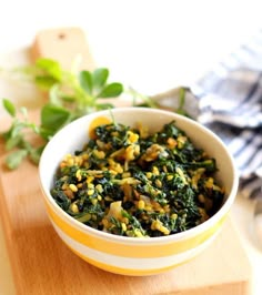
[[[56,58],[67,67],[68,57],[75,54],[71,44],[84,45],[82,38],[74,29],[46,31],[37,37],[32,55]],[[52,42],[63,42],[62,48],[68,45],[70,54],[58,54]],[[61,49],[59,52],[62,53]],[[84,60],[92,68],[89,54]],[[31,116],[38,118],[38,112]],[[2,118],[0,132],[9,123]],[[8,171],[3,165],[6,154],[0,142],[0,214],[19,295],[251,294],[251,266],[231,218],[206,251],[168,273],[149,277],[107,273],[75,256],[56,234],[44,211],[38,167],[24,162],[18,170]]]

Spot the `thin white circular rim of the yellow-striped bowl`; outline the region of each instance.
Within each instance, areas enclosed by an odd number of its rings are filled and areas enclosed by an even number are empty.
[[[208,134],[208,136],[212,136],[220,145],[221,148],[224,150],[229,163],[231,165],[232,172],[233,172],[233,182],[232,182],[232,187],[231,191],[228,194],[226,200],[223,202],[223,204],[221,205],[220,210],[213,214],[209,220],[204,221],[203,223],[180,232],[180,233],[175,233],[175,234],[171,234],[171,235],[167,235],[167,236],[157,236],[157,237],[143,237],[143,238],[138,238],[138,237],[130,237],[130,236],[120,236],[120,235],[114,235],[111,233],[107,233],[103,231],[99,231],[95,230],[87,224],[83,224],[79,221],[77,221],[75,218],[73,218],[72,216],[70,216],[66,211],[63,211],[54,201],[54,199],[51,196],[51,193],[49,191],[49,187],[46,187],[46,185],[43,184],[43,171],[42,171],[42,166],[43,166],[43,161],[46,159],[46,155],[50,149],[50,146],[53,143],[53,139],[57,139],[59,136],[61,136],[62,133],[64,133],[67,131],[68,128],[72,128],[72,125],[77,125],[79,124],[80,121],[89,121],[89,120],[93,120],[94,118],[101,116],[101,115],[112,115],[114,112],[150,112],[150,113],[155,113],[155,114],[165,114],[172,116],[174,120],[179,119],[180,122],[188,122],[189,124],[194,125],[194,128],[202,130],[202,132],[204,132],[205,134]],[[69,126],[70,125],[70,126]],[[182,129],[182,128],[181,128]],[[187,132],[185,132],[187,133]],[[94,113],[90,113],[87,115],[83,115],[77,120],[74,120],[73,122],[69,123],[68,125],[63,126],[61,130],[59,130],[53,138],[47,143],[42,155],[40,157],[40,162],[39,162],[39,180],[40,180],[40,186],[41,186],[41,191],[43,194],[43,197],[47,199],[48,203],[51,204],[56,211],[56,214],[59,214],[60,216],[63,217],[63,220],[68,221],[69,224],[72,224],[74,227],[81,230],[82,232],[88,232],[89,234],[92,234],[94,236],[99,236],[100,238],[105,238],[105,240],[111,240],[111,241],[115,241],[115,242],[120,242],[120,243],[131,243],[131,244],[141,244],[141,245],[145,245],[145,244],[151,244],[152,242],[155,243],[171,243],[174,241],[179,241],[179,240],[184,240],[185,237],[190,237],[190,236],[195,236],[199,233],[202,233],[204,231],[206,231],[208,228],[212,227],[212,225],[214,225],[215,223],[218,223],[220,220],[222,220],[222,217],[224,215],[226,215],[230,211],[231,205],[234,202],[234,199],[238,193],[238,186],[239,186],[239,173],[234,163],[234,159],[231,155],[231,153],[229,153],[226,145],[223,143],[223,141],[211,130],[209,130],[206,126],[200,124],[198,121],[194,121],[190,118],[187,118],[184,115],[171,112],[171,111],[167,111],[167,110],[160,110],[160,109],[150,109],[150,108],[143,108],[143,106],[124,106],[124,108],[115,108],[115,109],[111,109],[111,110],[102,110],[102,111],[98,111]]]

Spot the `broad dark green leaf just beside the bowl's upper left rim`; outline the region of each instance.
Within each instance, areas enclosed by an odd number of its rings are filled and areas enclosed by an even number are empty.
[[[41,128],[57,131],[68,123],[70,112],[61,106],[48,103],[41,110]]]

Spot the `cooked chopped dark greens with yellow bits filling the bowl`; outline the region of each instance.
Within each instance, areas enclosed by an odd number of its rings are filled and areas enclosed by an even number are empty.
[[[79,222],[108,233],[165,236],[192,228],[221,206],[215,160],[165,124],[102,124],[81,151],[67,154],[51,194]]]

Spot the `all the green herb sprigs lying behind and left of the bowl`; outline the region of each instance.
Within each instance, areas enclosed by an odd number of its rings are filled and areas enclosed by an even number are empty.
[[[107,99],[119,98],[124,91],[121,83],[109,82],[109,70],[105,68],[92,72],[68,71],[58,61],[46,58],[37,60],[32,65],[16,69],[14,73],[32,81],[46,94],[47,103],[41,106],[40,123],[37,124],[30,122],[27,108],[18,110],[10,100],[2,99],[3,108],[12,118],[10,128],[0,133],[7,151],[10,151],[6,164],[11,170],[17,169],[27,157],[38,164],[47,142],[61,128],[84,114],[114,108]],[[131,95],[133,106],[161,108],[158,101],[132,88],[125,93]],[[173,111],[187,115],[183,111],[184,95],[184,89],[181,88],[179,108]],[[36,145],[30,141],[28,133],[37,136],[41,144]]]

